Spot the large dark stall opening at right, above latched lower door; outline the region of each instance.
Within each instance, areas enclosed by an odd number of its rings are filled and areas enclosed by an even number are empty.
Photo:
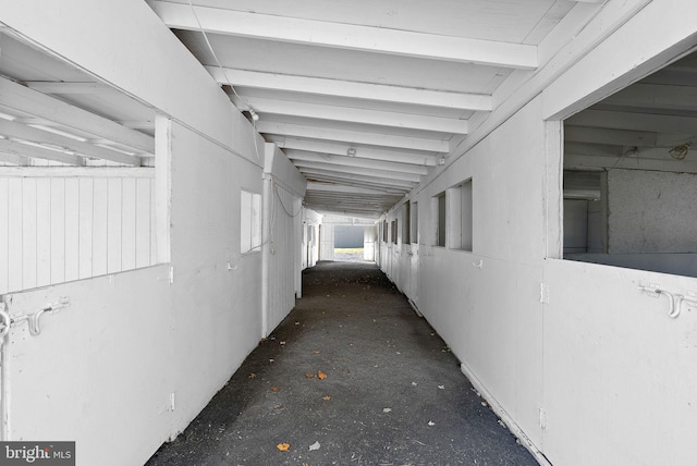
[[[695,70],[692,53],[564,121],[564,259],[697,277]]]

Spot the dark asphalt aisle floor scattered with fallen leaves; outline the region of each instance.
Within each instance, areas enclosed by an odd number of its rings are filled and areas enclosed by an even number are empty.
[[[148,466],[537,465],[375,263],[320,262],[303,283],[296,308]]]

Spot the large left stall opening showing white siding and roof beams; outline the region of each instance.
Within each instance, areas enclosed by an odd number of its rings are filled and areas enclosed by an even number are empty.
[[[0,294],[169,261],[169,120],[17,37],[0,42],[3,98],[17,102],[0,112]],[[41,86],[63,81],[95,86],[66,106]]]

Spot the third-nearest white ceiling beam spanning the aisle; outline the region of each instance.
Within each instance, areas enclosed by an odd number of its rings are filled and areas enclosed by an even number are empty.
[[[264,115],[264,113],[273,113],[379,126],[406,127],[439,133],[467,134],[466,120],[366,110],[350,107],[332,107],[299,101],[265,99],[259,97],[245,97],[244,102],[241,102],[241,99],[235,96],[232,96],[231,98],[235,105],[237,105],[237,108],[252,106],[252,108],[261,115]]]

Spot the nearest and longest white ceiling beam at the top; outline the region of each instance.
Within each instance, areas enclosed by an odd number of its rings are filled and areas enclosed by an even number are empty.
[[[402,57],[534,70],[537,47],[342,23],[169,3],[150,7],[170,28],[333,47]]]

